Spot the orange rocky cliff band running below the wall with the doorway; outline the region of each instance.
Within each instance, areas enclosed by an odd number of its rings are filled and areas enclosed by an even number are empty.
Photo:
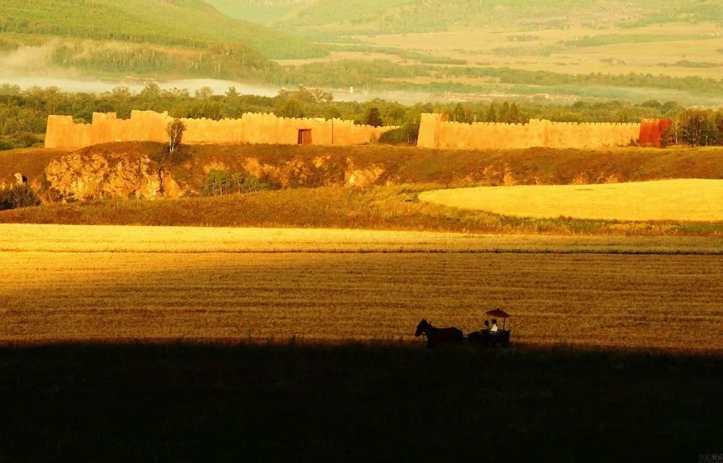
[[[264,163],[257,157],[243,157],[234,163],[204,160],[202,164],[189,159],[161,170],[161,194],[158,163],[150,157],[78,150],[51,160],[44,170],[45,182],[35,187],[46,192],[48,201],[174,199],[200,194],[203,179],[210,170],[250,174],[277,188],[364,187],[383,183],[380,178],[386,172],[384,165],[357,167],[351,158],[340,162],[328,156],[293,157],[281,163]]]

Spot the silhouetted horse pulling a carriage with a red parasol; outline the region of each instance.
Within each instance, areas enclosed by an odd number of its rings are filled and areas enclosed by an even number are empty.
[[[489,316],[502,319],[502,329],[492,331],[491,329],[481,329],[479,331],[470,332],[467,337],[461,329],[458,328],[437,328],[432,326],[429,321],[423,319],[416,326],[414,336],[419,337],[424,334],[427,337],[427,347],[435,347],[440,344],[461,344],[466,339],[467,342],[482,347],[494,347],[501,345],[509,347],[510,345],[510,329],[505,329],[509,314],[501,308],[495,308],[485,312]]]

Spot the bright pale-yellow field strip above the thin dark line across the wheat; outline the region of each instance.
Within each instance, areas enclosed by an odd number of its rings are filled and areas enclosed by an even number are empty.
[[[582,252],[723,253],[723,237],[479,235],[324,228],[201,228],[117,225],[0,225],[7,251],[244,252]]]

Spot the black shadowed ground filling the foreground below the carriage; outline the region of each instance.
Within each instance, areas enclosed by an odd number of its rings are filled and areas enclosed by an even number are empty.
[[[410,345],[0,347],[0,461],[681,461],[723,358]]]

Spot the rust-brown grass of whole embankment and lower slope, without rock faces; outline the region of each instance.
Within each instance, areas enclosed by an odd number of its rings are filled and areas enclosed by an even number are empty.
[[[106,144],[89,155],[151,155],[161,145]],[[417,200],[421,191],[476,185],[569,184],[662,178],[723,178],[719,148],[651,150],[419,150],[385,146],[283,147],[199,145],[174,178],[198,188],[208,168],[247,172],[249,160],[277,172],[275,181],[312,188],[174,201],[51,204],[0,212],[0,222],[87,225],[278,226],[444,230],[479,233],[719,235],[720,222],[617,222],[523,219],[464,211]],[[67,152],[67,151],[66,151]],[[64,151],[14,150],[0,155],[0,173],[42,183],[43,170]],[[316,160],[322,160],[317,165]],[[295,166],[289,168],[289,166]],[[376,186],[338,188],[353,169],[380,169]],[[267,179],[268,180],[268,179]],[[390,184],[391,183],[391,184]],[[329,187],[329,185],[333,187]],[[278,186],[278,183],[277,183]],[[316,188],[322,187],[322,188]]]

